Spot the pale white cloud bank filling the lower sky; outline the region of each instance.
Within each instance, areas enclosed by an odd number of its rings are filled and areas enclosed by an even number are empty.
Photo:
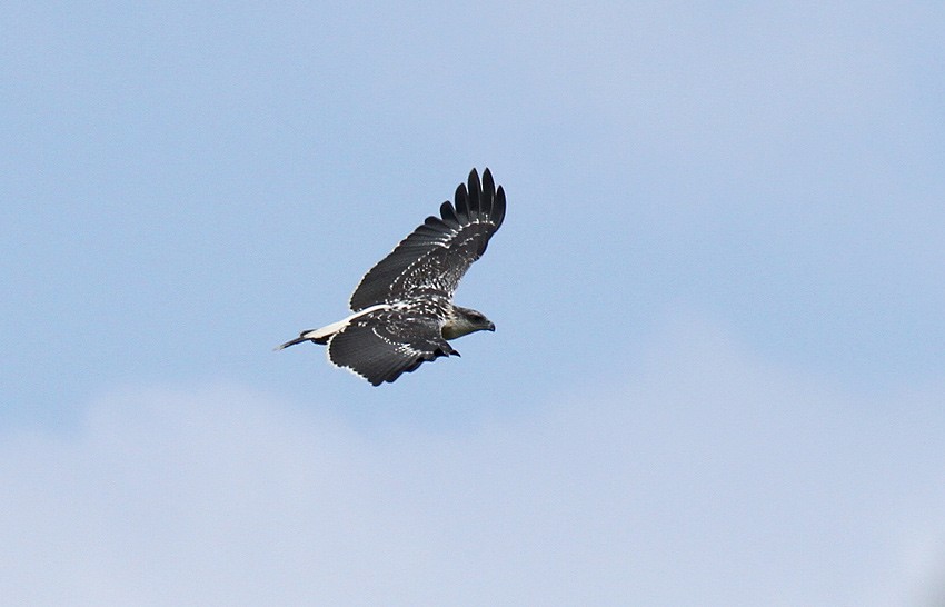
[[[101,399],[72,436],[0,447],[0,593],[48,605],[932,604],[945,456],[925,392],[825,389],[698,324],[662,340],[613,386],[465,431],[365,432],[227,388]]]

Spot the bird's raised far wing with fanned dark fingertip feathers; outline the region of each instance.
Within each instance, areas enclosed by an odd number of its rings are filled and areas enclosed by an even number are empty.
[[[456,205],[446,201],[440,217],[430,216],[361,279],[351,295],[351,310],[389,304],[411,295],[452,297],[459,279],[486,250],[503,225],[506,195],[496,190],[489,169],[469,173],[468,187],[456,188]]]

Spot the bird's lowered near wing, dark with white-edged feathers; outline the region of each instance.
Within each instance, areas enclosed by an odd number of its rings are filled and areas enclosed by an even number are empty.
[[[396,308],[368,312],[331,337],[328,360],[375,386],[394,381],[427,360],[457,355],[429,310]]]

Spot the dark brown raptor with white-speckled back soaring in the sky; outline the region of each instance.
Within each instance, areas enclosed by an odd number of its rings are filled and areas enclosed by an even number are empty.
[[[302,331],[277,350],[312,341],[328,346],[328,361],[374,386],[394,381],[441,356],[459,356],[448,339],[495,331],[481,312],[452,304],[469,266],[486,251],[503,225],[506,196],[489,169],[476,169],[456,188],[454,203],[440,206],[384,259],[351,295],[351,316]]]

